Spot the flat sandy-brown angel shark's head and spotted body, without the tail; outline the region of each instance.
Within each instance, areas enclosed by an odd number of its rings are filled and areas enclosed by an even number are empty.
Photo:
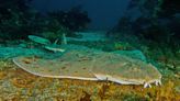
[[[161,85],[161,75],[151,64],[113,53],[75,49],[59,58],[20,56],[13,63],[27,72],[50,78],[109,80],[122,85]]]

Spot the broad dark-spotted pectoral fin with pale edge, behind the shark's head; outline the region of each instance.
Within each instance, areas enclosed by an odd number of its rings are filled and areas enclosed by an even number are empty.
[[[25,71],[41,77],[98,80],[89,71],[92,68],[92,60],[86,60],[85,57],[72,58],[74,55],[76,54],[68,53],[65,57],[56,59],[43,59],[35,56],[15,57],[13,63]]]

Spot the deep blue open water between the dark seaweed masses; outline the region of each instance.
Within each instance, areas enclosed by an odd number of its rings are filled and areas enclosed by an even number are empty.
[[[34,0],[33,7],[41,12],[69,10],[82,5],[92,19],[90,29],[110,29],[124,14],[130,0]]]

